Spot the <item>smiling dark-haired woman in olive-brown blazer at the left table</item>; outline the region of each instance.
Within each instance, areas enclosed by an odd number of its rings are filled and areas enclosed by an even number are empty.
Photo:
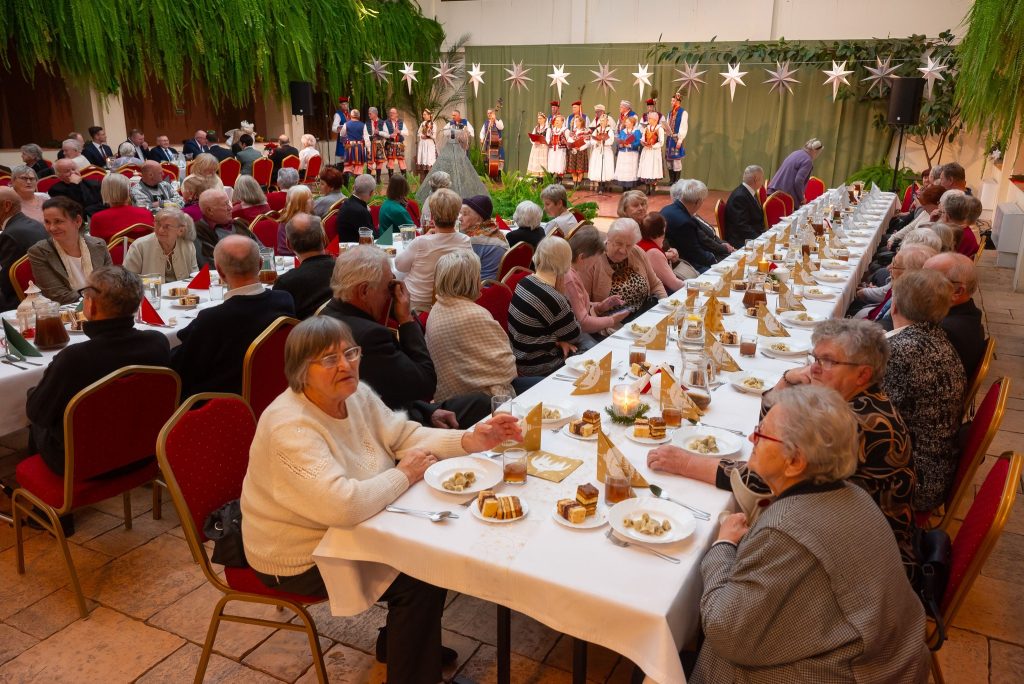
[[[66,197],[43,204],[43,225],[49,237],[28,251],[33,280],[47,299],[74,304],[89,273],[111,265],[111,253],[102,240],[85,234],[81,205]]]

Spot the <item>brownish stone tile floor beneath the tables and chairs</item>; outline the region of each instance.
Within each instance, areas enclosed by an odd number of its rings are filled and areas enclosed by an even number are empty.
[[[1024,448],[1024,295],[1009,291],[1010,272],[994,268],[985,255],[980,303],[997,341],[996,358],[983,393],[998,376],[1014,388],[990,448],[994,456]],[[26,450],[25,432],[0,438],[0,476],[9,477]],[[978,481],[987,468],[979,473]],[[199,661],[210,612],[218,598],[195,565],[170,502],[164,519],[154,520],[151,493],[133,496],[134,524],[123,527],[121,503],[114,500],[78,514],[71,538],[82,585],[94,606],[78,617],[68,575],[53,540],[29,532],[27,569],[14,567],[14,537],[0,524],[0,681],[2,682],[184,682]],[[1024,672],[1024,504],[1018,502],[1009,525],[975,583],[940,653],[946,680],[965,684],[1021,681]],[[254,610],[254,608],[247,608]],[[272,609],[255,608],[274,617]],[[385,679],[372,653],[383,608],[350,618],[335,618],[327,606],[313,608],[332,682]],[[458,650],[447,674],[477,682],[495,681],[494,608],[452,595],[444,613],[444,641]],[[543,625],[513,619],[513,681],[531,684],[569,682],[571,641]],[[313,682],[304,636],[225,624],[207,673],[209,682]],[[592,647],[588,679],[629,682],[632,664]]]

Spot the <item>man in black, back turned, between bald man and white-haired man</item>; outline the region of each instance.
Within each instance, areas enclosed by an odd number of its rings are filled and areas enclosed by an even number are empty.
[[[285,222],[288,249],[299,265],[282,273],[273,284],[295,300],[295,314],[308,318],[331,299],[331,273],[334,257],[324,251],[327,238],[319,216],[300,212]]]

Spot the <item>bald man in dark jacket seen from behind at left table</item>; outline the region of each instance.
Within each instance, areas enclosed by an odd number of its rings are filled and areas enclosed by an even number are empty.
[[[178,332],[181,346],[171,368],[181,376],[181,398],[198,392],[242,393],[246,350],[279,316],[295,315],[292,295],[265,290],[259,283],[258,243],[227,236],[213,254],[224,284],[224,303],[203,309]]]

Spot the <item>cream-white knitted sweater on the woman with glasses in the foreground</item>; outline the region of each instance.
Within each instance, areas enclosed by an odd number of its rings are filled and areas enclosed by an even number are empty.
[[[358,524],[409,488],[395,468],[406,451],[466,453],[462,430],[414,423],[361,382],[345,405],[348,418],[338,420],[286,390],[260,417],[242,484],[242,536],[256,570],[285,576],[312,567],[328,527]]]

